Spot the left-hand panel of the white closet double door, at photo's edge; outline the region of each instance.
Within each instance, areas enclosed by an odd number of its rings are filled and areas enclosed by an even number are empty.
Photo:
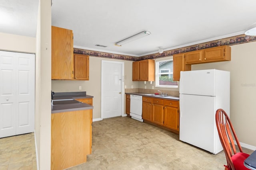
[[[0,51],[0,137],[16,135],[16,57]]]

